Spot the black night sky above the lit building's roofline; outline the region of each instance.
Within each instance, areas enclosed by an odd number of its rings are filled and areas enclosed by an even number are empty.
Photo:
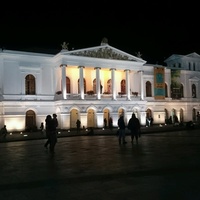
[[[183,1],[64,1],[41,5],[10,2],[1,7],[0,47],[58,53],[109,45],[150,64],[163,64],[172,54],[200,54],[197,2]]]

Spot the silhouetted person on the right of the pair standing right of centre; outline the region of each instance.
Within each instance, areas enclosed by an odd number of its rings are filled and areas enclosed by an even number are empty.
[[[134,113],[128,121],[128,129],[131,132],[131,142],[133,143],[133,140],[135,138],[136,143],[138,143],[138,138],[140,137],[140,121]]]

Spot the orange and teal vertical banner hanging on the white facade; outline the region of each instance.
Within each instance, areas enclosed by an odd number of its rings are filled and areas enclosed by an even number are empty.
[[[165,99],[165,69],[154,68],[154,98]]]

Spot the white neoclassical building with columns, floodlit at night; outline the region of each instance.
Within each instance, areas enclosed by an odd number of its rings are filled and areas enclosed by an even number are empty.
[[[110,46],[63,49],[56,55],[0,51],[0,125],[9,131],[39,128],[56,113],[60,129],[102,128],[121,113],[136,113],[142,125],[195,121],[200,110],[200,56],[172,55],[166,66]]]

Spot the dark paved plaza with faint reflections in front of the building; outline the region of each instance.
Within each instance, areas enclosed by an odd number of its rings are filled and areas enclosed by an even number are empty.
[[[0,197],[6,200],[200,200],[200,131],[0,143]]]

